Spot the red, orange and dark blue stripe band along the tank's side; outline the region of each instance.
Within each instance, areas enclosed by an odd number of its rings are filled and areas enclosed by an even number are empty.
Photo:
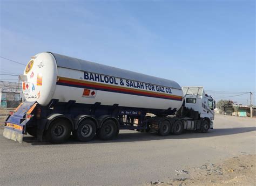
[[[109,92],[117,92],[121,94],[131,94],[137,96],[147,96],[147,97],[156,97],[162,99],[172,99],[176,101],[182,101],[182,96],[169,95],[158,92],[151,92],[147,90],[136,90],[127,87],[119,87],[115,85],[103,84],[90,82],[86,80],[76,80],[73,78],[67,77],[58,77],[57,85],[64,85],[68,87],[77,87],[77,88],[85,88],[85,89],[95,89]]]

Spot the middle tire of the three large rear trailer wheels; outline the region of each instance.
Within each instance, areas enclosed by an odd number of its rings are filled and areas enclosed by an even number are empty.
[[[79,141],[90,141],[95,137],[96,124],[91,119],[85,119],[79,124],[77,130],[74,133],[76,139]]]

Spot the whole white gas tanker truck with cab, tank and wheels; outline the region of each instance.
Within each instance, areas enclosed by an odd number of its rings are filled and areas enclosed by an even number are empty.
[[[31,57],[22,81],[25,101],[5,120],[4,137],[24,134],[62,143],[119,130],[181,134],[213,128],[215,102],[203,87],[180,87],[171,80],[43,52]]]

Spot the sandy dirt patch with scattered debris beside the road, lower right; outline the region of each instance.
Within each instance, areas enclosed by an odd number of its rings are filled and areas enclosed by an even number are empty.
[[[255,167],[256,155],[234,156],[218,164],[203,164],[193,168],[191,173],[177,170],[178,178],[148,185],[256,185]]]

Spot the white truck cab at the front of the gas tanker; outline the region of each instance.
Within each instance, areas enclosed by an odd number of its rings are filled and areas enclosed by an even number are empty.
[[[203,87],[182,87],[185,107],[198,111],[200,118],[210,120],[210,128],[213,128],[215,101],[205,94]]]

